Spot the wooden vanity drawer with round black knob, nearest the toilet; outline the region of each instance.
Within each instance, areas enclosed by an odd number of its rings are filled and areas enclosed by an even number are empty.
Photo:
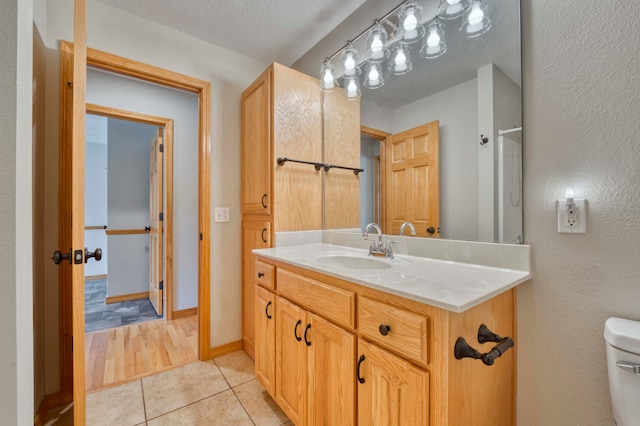
[[[386,303],[358,298],[360,334],[391,351],[427,365],[429,319]]]

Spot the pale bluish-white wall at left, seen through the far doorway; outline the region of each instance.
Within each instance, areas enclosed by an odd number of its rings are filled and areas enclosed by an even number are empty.
[[[107,224],[107,144],[85,144],[84,223],[85,226]],[[84,231],[84,245],[89,251],[102,249],[102,260],[90,260],[84,265],[84,276],[105,275],[109,264],[107,235],[103,229]]]

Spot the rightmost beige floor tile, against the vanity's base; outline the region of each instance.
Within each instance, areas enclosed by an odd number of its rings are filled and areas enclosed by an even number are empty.
[[[233,391],[256,425],[280,426],[289,420],[258,380],[237,386]]]

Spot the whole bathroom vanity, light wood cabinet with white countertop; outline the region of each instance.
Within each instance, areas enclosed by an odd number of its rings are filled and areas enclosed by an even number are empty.
[[[254,253],[256,375],[296,425],[515,424],[517,342],[492,365],[454,347],[491,353],[501,343],[479,343],[482,324],[515,341],[528,266],[323,243]]]

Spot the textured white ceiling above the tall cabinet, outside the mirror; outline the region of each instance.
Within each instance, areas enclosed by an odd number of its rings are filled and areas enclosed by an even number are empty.
[[[99,0],[215,45],[291,65],[364,0]]]

